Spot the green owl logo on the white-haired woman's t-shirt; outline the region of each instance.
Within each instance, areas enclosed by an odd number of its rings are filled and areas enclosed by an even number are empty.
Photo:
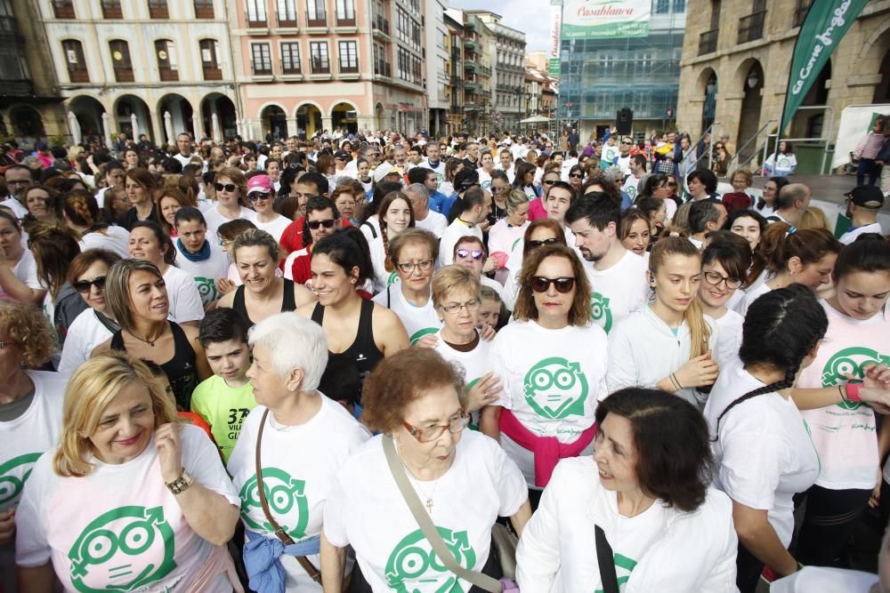
[[[291,477],[287,471],[278,468],[263,468],[263,492],[269,501],[269,510],[279,525],[294,540],[306,537],[309,525],[309,501],[305,495],[306,483]],[[245,525],[258,532],[272,533],[275,530],[263,516],[263,505],[256,484],[256,475],[241,486],[241,518]],[[252,517],[251,510],[258,511]],[[255,517],[263,517],[258,523]]]

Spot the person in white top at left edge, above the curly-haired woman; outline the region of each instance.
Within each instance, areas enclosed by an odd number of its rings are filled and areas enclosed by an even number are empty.
[[[37,279],[34,256],[21,240],[21,227],[14,214],[0,210],[0,295],[40,305],[46,288]]]

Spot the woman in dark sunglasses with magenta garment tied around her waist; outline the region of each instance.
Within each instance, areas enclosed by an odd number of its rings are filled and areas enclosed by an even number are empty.
[[[556,463],[593,452],[596,403],[606,397],[606,334],[590,323],[590,283],[569,247],[545,244],[522,264],[516,321],[491,343],[504,391],[481,429],[503,445],[537,501]]]

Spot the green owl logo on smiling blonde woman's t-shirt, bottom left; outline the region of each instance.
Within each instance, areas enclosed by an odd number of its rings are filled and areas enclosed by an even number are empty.
[[[164,508],[118,507],[86,525],[68,553],[81,593],[145,590],[176,568],[174,531]]]

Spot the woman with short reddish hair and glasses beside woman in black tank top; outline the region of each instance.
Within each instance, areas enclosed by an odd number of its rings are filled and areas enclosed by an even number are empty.
[[[374,302],[399,316],[413,346],[441,329],[433,306],[433,268],[439,257],[439,240],[423,228],[409,228],[390,244],[390,260],[399,282],[389,284]]]

